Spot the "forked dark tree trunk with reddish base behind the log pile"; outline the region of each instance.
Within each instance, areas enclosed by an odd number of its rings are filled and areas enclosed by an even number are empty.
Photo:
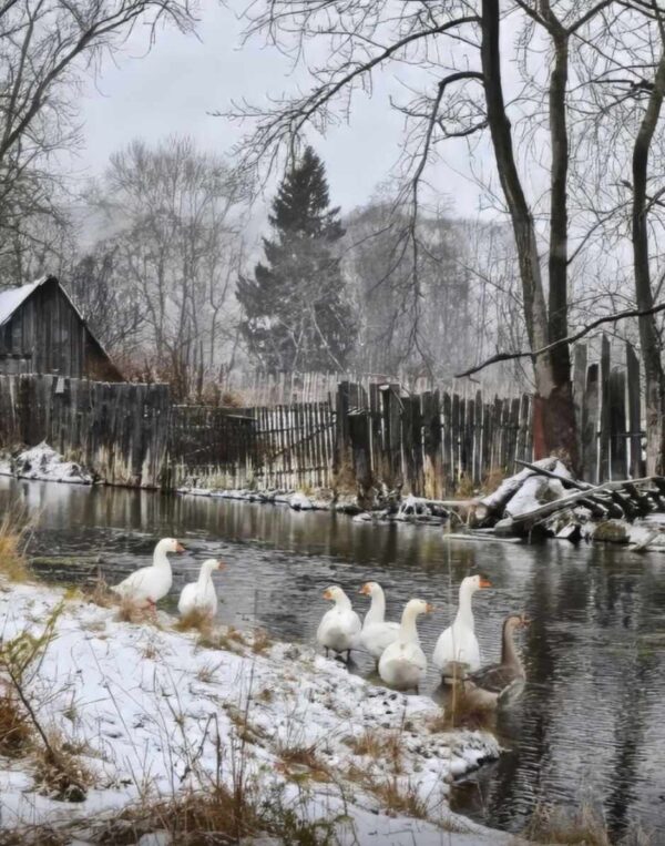
[[[520,277],[526,332],[532,349],[546,346],[555,337],[564,337],[567,326],[566,275],[567,275],[567,214],[565,210],[565,181],[567,172],[567,140],[565,126],[565,85],[567,78],[567,45],[561,55],[557,53],[555,72],[552,78],[550,104],[555,105],[552,120],[553,164],[552,206],[555,216],[552,221],[553,243],[551,245],[550,272],[554,272],[554,286],[551,284],[550,308],[553,315],[548,319],[548,308],[538,255],[533,215],[524,196],[514,161],[511,126],[505,113],[503,89],[501,84],[501,54],[499,47],[500,13],[499,0],[482,0],[482,43],[481,60],[483,86],[487,101],[488,125],[497,156],[499,180],[510,212],[518,249]],[[561,102],[563,100],[563,112]],[[563,144],[562,144],[563,140]],[[554,149],[554,143],[556,147]],[[562,159],[564,160],[562,162]],[[559,206],[563,195],[563,208]],[[552,292],[552,287],[554,291]],[[563,289],[562,289],[563,288]],[[551,320],[553,320],[551,323]],[[562,329],[563,327],[563,329]],[[562,334],[560,334],[562,333]],[[542,430],[542,449],[549,455],[554,449],[567,452],[573,466],[577,462],[575,438],[575,416],[570,379],[570,356],[567,347],[563,353],[540,356],[534,361],[535,388],[540,397],[534,406],[539,419],[534,428]],[[541,417],[542,415],[542,417]],[[541,439],[536,439],[541,444]],[[542,456],[536,455],[536,458]]]

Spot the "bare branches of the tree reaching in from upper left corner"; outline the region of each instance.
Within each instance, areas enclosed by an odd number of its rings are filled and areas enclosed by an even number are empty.
[[[0,2],[0,241],[30,239],[27,221],[58,217],[54,155],[78,141],[83,75],[137,24],[152,40],[166,21],[191,30],[190,0]]]

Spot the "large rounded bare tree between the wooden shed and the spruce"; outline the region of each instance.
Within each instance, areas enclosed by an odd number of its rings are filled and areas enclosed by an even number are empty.
[[[224,366],[235,340],[233,286],[243,254],[245,182],[187,137],[114,154],[91,202],[115,230],[105,249],[141,314],[140,349],[184,399]]]

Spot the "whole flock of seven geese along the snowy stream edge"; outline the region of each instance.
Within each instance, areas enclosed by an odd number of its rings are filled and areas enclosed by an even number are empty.
[[[154,611],[173,584],[173,573],[168,553],[184,552],[184,547],[174,538],[164,538],[155,547],[153,563],[133,572],[120,584],[113,585],[117,595],[140,608]],[[213,572],[224,568],[216,559],[207,559],[201,567],[197,581],[185,584],[178,600],[178,611],[186,615],[198,612],[213,618],[217,612],[217,592],[213,583]],[[483,694],[485,701],[498,702],[505,692],[525,679],[514,633],[525,628],[529,620],[524,614],[510,614],[503,622],[501,661],[481,667],[480,646],[475,636],[471,601],[473,594],[491,584],[483,575],[468,575],[459,589],[459,607],[452,624],[439,635],[432,663],[443,681],[464,681],[470,690]],[[418,692],[427,671],[427,658],[420,645],[417,619],[433,611],[433,607],[421,599],[407,602],[401,622],[386,620],[386,597],[378,582],[367,582],[359,591],[370,599],[369,611],[362,623],[354,611],[351,601],[344,590],[334,584],[324,591],[324,599],[334,603],[317,630],[316,640],[326,651],[336,655],[346,653],[347,661],[352,650],[365,650],[377,662],[379,675],[390,687]]]

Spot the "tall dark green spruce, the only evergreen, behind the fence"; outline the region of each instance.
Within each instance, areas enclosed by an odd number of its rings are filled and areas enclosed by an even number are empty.
[[[344,369],[357,334],[332,249],[344,228],[311,147],[286,174],[269,222],[265,262],[236,294],[249,354],[269,373]]]

